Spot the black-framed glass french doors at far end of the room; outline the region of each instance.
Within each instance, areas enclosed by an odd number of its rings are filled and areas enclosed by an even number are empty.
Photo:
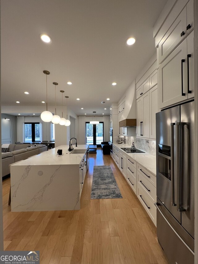
[[[104,122],[99,124],[90,124],[86,122],[86,144],[88,145],[101,145],[104,141]]]

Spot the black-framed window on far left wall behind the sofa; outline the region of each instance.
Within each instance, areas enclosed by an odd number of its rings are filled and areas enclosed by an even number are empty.
[[[25,142],[40,141],[40,123],[25,123]]]

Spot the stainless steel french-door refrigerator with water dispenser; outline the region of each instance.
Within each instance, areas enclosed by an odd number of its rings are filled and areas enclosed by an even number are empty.
[[[156,114],[157,238],[170,264],[194,263],[194,101]]]

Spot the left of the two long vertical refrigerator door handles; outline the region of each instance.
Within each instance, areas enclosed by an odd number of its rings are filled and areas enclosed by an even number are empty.
[[[175,123],[170,124],[170,170],[171,170],[171,204],[176,206],[174,201],[174,126]]]

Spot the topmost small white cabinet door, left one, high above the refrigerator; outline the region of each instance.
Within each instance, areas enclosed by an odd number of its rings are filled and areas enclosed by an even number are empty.
[[[186,37],[187,30],[187,7],[183,9],[172,26],[169,28],[166,35],[159,43],[159,63],[163,62],[165,58],[179,45],[180,42]]]

